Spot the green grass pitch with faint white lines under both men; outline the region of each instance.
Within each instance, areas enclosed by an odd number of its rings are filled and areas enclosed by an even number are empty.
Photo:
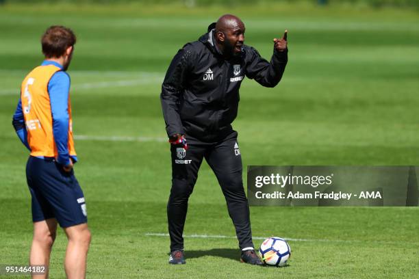
[[[177,49],[226,12],[241,16],[246,43],[268,59],[272,38],[289,30],[289,64],[277,88],[242,83],[233,127],[244,169],[418,165],[416,12],[303,5],[0,6],[0,263],[27,263],[27,151],[11,120],[23,77],[42,61],[42,31],[61,24],[78,36],[68,72],[75,172],[93,237],[88,278],[417,278],[418,208],[252,207],[253,235],[295,239],[292,258],[279,269],[241,264],[223,194],[205,163],[184,233],[210,238],[186,237],[187,264],[167,264],[168,237],[148,235],[167,233],[170,157],[160,85]],[[64,277],[65,244],[60,230],[51,278]]]

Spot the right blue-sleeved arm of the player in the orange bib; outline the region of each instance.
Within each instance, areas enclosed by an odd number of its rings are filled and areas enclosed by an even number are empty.
[[[66,72],[58,71],[51,77],[48,84],[49,100],[53,118],[53,135],[57,146],[57,162],[71,168],[73,162],[68,151],[68,92],[70,91],[70,77]]]

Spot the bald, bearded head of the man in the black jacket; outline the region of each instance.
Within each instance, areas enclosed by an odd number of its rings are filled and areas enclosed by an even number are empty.
[[[244,23],[237,16],[225,14],[218,18],[215,37],[218,49],[225,57],[237,55],[244,44]]]

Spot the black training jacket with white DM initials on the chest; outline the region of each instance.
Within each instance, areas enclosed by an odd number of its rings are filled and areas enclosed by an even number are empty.
[[[204,142],[222,138],[232,131],[245,76],[270,88],[281,80],[288,50],[274,49],[268,62],[244,45],[239,55],[226,60],[214,44],[212,29],[185,44],[170,63],[160,95],[169,137],[180,133]]]

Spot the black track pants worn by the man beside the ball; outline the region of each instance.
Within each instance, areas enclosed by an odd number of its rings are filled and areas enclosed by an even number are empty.
[[[201,142],[186,135],[188,150],[170,146],[172,153],[172,189],[167,204],[170,251],[183,249],[183,226],[188,211],[188,198],[192,194],[198,170],[205,157],[212,168],[227,201],[227,208],[240,248],[253,247],[249,204],[242,181],[242,158],[233,131],[220,142]]]

